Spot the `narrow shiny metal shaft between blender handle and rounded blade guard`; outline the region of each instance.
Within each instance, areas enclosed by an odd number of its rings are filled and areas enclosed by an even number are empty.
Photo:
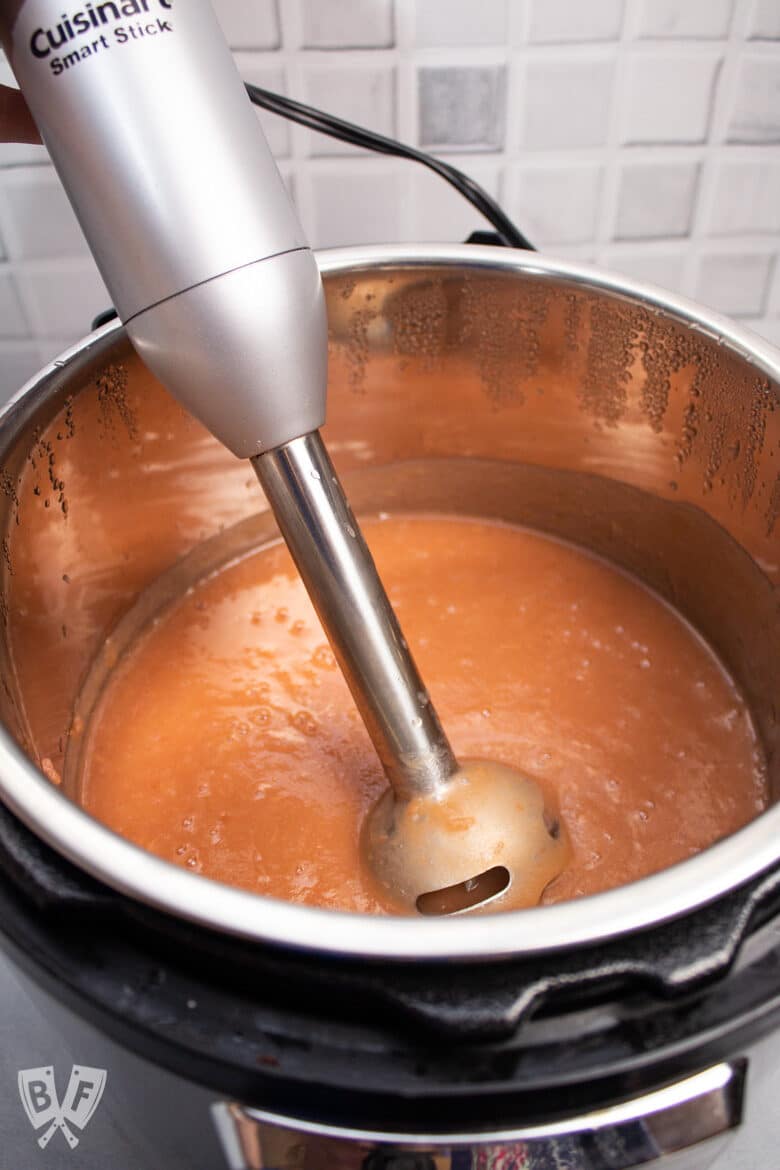
[[[457,762],[318,431],[253,460],[396,798]]]

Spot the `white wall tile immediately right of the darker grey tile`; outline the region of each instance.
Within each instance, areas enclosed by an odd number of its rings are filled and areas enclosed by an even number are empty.
[[[614,56],[544,54],[525,70],[520,150],[601,146],[609,132]]]

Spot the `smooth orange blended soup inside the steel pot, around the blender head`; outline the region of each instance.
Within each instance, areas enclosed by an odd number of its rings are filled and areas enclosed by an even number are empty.
[[[747,708],[636,580],[486,521],[364,522],[456,753],[530,775],[572,860],[544,901],[665,868],[766,807]],[[385,779],[287,550],[200,581],[113,670],[81,799],[160,856],[292,902],[398,907],[360,856]]]

